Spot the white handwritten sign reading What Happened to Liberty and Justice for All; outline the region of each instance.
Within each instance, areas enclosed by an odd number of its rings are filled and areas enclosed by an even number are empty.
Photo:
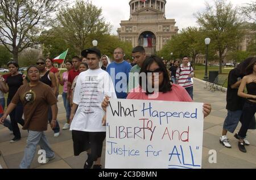
[[[201,168],[202,103],[111,99],[106,115],[105,168]]]

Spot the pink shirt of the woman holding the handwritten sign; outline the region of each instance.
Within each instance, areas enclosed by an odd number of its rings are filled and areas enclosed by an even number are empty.
[[[181,87],[180,85],[172,85],[172,91],[162,93],[159,92],[157,98],[148,98],[146,93],[142,92],[142,88],[135,88],[131,91],[127,99],[133,100],[156,100],[156,101],[178,101],[178,102],[193,102],[191,97],[188,95],[188,92]]]

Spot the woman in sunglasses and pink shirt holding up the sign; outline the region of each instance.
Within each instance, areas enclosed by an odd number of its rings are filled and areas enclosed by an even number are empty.
[[[134,100],[157,100],[157,101],[180,101],[180,102],[192,102],[193,100],[188,95],[188,92],[179,85],[171,84],[170,78],[166,66],[162,62],[162,59],[151,55],[148,57],[141,68],[139,79],[139,87],[131,91],[127,99]],[[146,80],[142,78],[142,75]],[[148,89],[152,87],[152,89]],[[102,102],[102,108],[106,111],[106,107],[109,105],[109,98],[106,97]],[[210,114],[212,107],[210,104],[204,104],[203,113],[204,117]],[[102,120],[105,124],[106,118]]]

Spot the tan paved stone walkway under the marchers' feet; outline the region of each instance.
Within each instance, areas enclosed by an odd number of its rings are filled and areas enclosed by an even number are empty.
[[[204,83],[195,80],[194,95],[196,102],[210,102],[212,104],[212,113],[205,118],[204,122],[204,142],[203,142],[203,168],[256,168],[256,131],[249,130],[247,139],[251,145],[247,146],[247,153],[242,153],[237,147],[237,140],[232,134],[228,134],[232,148],[228,149],[219,143],[219,136],[222,132],[222,125],[226,117],[226,93],[216,91],[210,92],[204,89]],[[60,127],[65,123],[65,110],[63,101],[60,98],[58,103],[58,119]],[[240,128],[241,125],[238,126]],[[237,128],[237,131],[238,131]],[[46,131],[52,149],[56,153],[56,158],[47,165],[38,164],[38,156],[34,158],[31,168],[82,168],[87,158],[86,153],[79,157],[73,156],[73,142],[71,132],[61,131],[58,138],[53,138],[53,131],[48,128]],[[9,140],[13,135],[9,130],[0,125],[0,164],[3,168],[18,168],[23,157],[24,147],[26,146],[27,131],[22,130],[22,140],[10,144]],[[217,164],[209,164],[208,152],[210,149],[217,151]],[[105,152],[105,147],[102,152]],[[104,153],[102,153],[102,165],[104,166]]]

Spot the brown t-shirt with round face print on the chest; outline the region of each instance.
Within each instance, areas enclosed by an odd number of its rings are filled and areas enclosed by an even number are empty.
[[[55,104],[57,99],[48,85],[39,82],[35,87],[30,87],[29,84],[22,85],[11,102],[23,104],[23,130],[46,131],[49,106]]]

